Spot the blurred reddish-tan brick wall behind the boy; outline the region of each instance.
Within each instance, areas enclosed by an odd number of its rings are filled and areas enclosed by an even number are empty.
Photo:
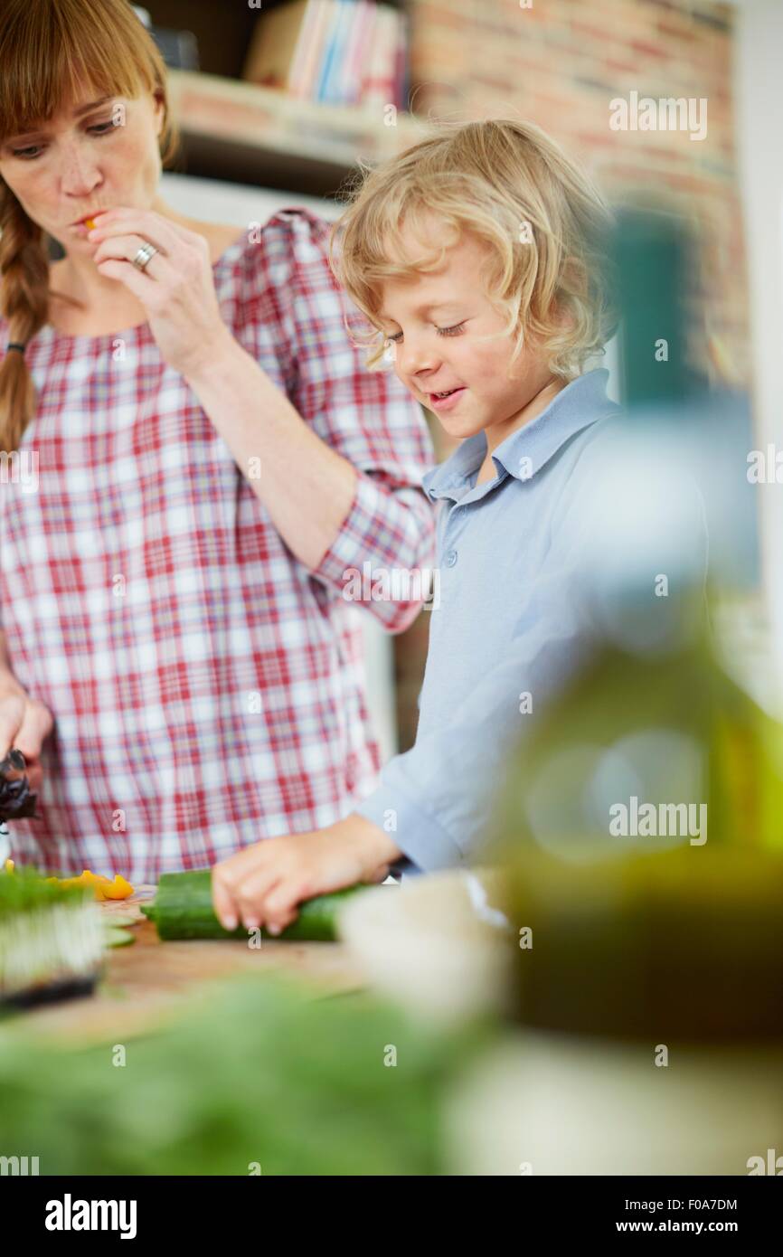
[[[410,0],[412,107],[420,117],[538,123],[577,156],[612,201],[651,187],[696,225],[698,316],[728,373],[748,382],[748,293],[731,126],[733,9],[708,0]],[[708,101],[708,131],[612,131],[610,101]],[[772,155],[770,155],[772,157]],[[705,361],[706,342],[694,337]],[[444,456],[446,446],[440,442]],[[427,613],[398,639],[402,745]],[[424,625],[422,622],[424,621]]]

